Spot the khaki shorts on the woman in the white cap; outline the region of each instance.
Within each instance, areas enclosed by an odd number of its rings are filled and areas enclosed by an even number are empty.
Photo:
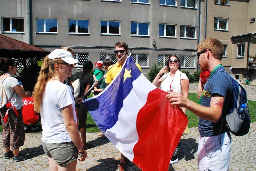
[[[42,146],[46,155],[53,158],[60,166],[76,161],[78,158],[77,148],[73,142],[46,143],[42,141]]]

